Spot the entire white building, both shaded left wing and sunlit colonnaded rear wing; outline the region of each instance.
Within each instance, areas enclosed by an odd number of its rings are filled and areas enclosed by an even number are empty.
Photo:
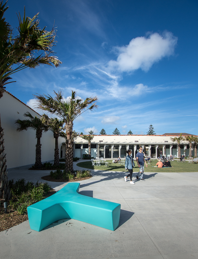
[[[7,168],[20,167],[35,163],[36,131],[28,129],[24,132],[16,132],[15,120],[25,119],[24,113],[30,112],[32,116],[41,116],[21,102],[15,96],[5,91],[0,99],[1,125],[4,129],[4,145],[7,160]],[[179,135],[179,133],[175,133]],[[126,156],[126,150],[131,149],[135,158],[140,145],[149,156],[156,157],[162,151],[163,155],[178,155],[178,147],[170,140],[171,136],[165,135],[95,135],[91,144],[91,155],[93,157],[117,158]],[[190,135],[183,133],[183,136]],[[41,137],[41,160],[42,162],[54,159],[55,139],[53,133],[43,132]],[[58,138],[60,157],[65,157],[65,140]],[[192,144],[192,148],[194,148]],[[188,156],[189,144],[183,141],[181,154]],[[74,157],[83,158],[88,155],[88,142],[80,136],[74,143]],[[194,149],[192,150],[194,156]]]

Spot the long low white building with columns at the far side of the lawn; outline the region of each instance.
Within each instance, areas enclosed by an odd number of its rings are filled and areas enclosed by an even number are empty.
[[[126,150],[132,150],[132,156],[135,158],[139,147],[147,156],[158,157],[160,151],[163,155],[177,155],[178,146],[171,141],[171,137],[179,136],[180,133],[171,133],[169,135],[95,135],[91,142],[91,155],[93,157],[118,158],[126,156]],[[182,136],[190,134],[183,133]],[[63,144],[64,146],[64,144]],[[74,157],[83,158],[88,154],[88,142],[80,136],[74,144]],[[181,144],[181,154],[188,156],[189,143],[183,141]],[[192,156],[194,156],[194,146],[192,144]]]

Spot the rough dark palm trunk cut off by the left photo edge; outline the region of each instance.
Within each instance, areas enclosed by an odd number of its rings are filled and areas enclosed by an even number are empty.
[[[0,199],[9,200],[11,198],[11,191],[9,189],[9,182],[6,171],[6,155],[4,154],[4,149],[3,129],[0,127]]]

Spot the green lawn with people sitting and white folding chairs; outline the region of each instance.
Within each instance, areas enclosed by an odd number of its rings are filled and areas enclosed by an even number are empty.
[[[88,169],[97,169],[97,170],[103,170],[103,171],[118,171],[118,172],[125,172],[124,165],[118,164],[118,163],[112,163],[112,160],[107,160],[109,162],[109,166],[105,167],[103,164],[101,166],[92,166],[92,162],[80,162],[77,163],[77,166],[88,168]],[[145,172],[198,172],[198,164],[190,164],[188,162],[186,163],[180,163],[177,161],[172,161],[171,165],[172,167],[164,167],[164,168],[158,168],[154,167],[157,163],[157,160],[153,160],[150,162],[151,165],[148,165],[148,167],[144,167]],[[139,167],[137,166],[137,163],[135,162],[135,168],[133,168],[133,172],[138,172]]]

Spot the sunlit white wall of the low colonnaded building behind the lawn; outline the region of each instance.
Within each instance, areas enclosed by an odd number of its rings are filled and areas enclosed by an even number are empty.
[[[159,152],[162,151],[162,154],[167,155],[176,155],[178,156],[178,148],[174,148],[175,143],[171,141],[171,137],[175,136],[165,136],[165,135],[94,135],[92,144],[97,145],[96,154],[92,155],[93,157],[104,156],[105,147],[111,145],[111,158],[117,158],[118,156],[126,156],[126,150],[133,146],[133,149],[130,148],[133,152],[133,157],[136,157],[136,153],[139,151],[139,146],[143,147],[143,150],[147,153],[147,156],[157,157]],[[75,140],[75,143],[83,144],[87,143],[86,140],[82,139],[80,136]],[[183,141],[182,144],[187,146],[188,143]],[[104,147],[101,147],[104,145]],[[74,145],[75,146],[75,145]],[[125,146],[125,151],[123,150]],[[189,154],[189,149],[185,149],[186,156]],[[75,148],[74,148],[75,153]],[[87,152],[88,153],[88,152]],[[79,153],[80,154],[80,153]],[[184,148],[181,149],[181,154],[184,154]],[[192,150],[192,155],[194,155],[194,150]]]

